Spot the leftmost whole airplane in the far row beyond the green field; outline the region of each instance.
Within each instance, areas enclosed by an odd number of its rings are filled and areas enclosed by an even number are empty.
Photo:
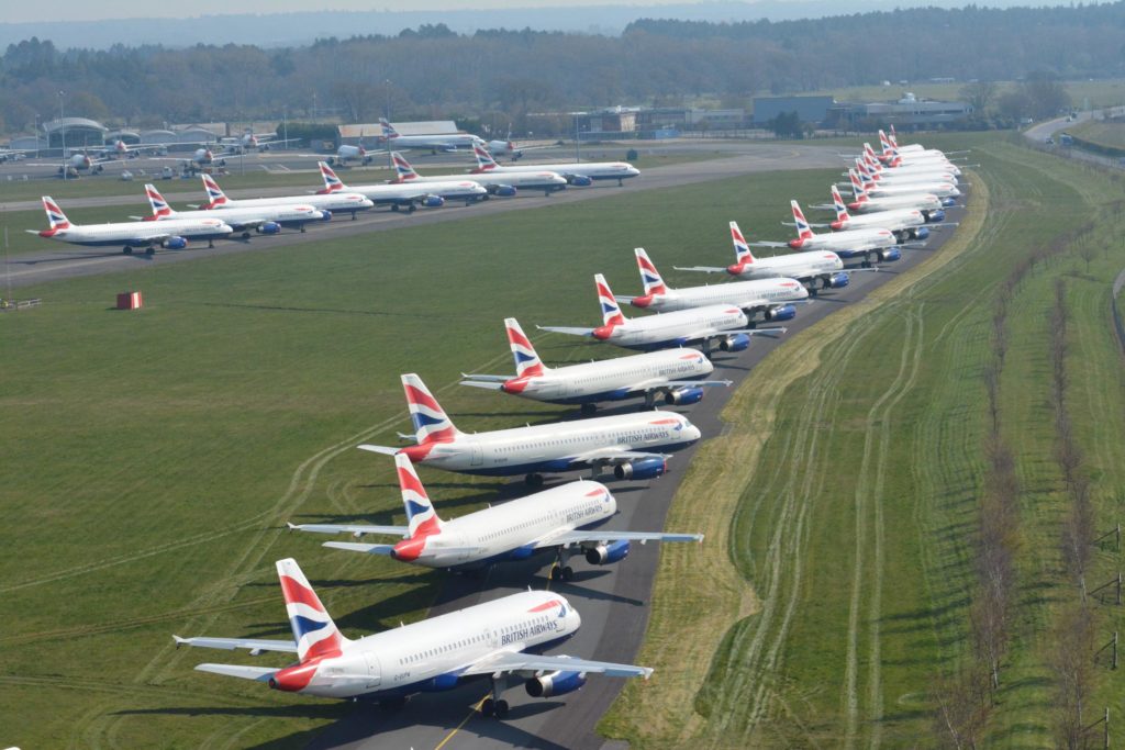
[[[89,247],[119,246],[126,255],[132,255],[136,247],[144,247],[145,254],[152,255],[156,245],[169,250],[183,250],[189,240],[206,240],[208,247],[215,246],[215,240],[230,237],[234,232],[227,224],[215,218],[182,218],[145,224],[142,222],[122,222],[117,224],[71,224],[58,208],[58,204],[50,196],[43,197],[43,209],[47,213],[48,229],[37,234],[47,240],[56,240],[71,245]]]

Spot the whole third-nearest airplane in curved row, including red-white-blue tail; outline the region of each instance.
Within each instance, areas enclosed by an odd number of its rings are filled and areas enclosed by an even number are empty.
[[[687,448],[700,439],[699,427],[673,412],[638,412],[578,422],[462,433],[416,374],[403,376],[403,389],[414,423],[414,445],[360,445],[364,451],[403,453],[415,464],[446,471],[511,477],[526,475],[541,485],[541,472],[613,467],[618,479],[652,479],[667,470],[663,450]]]

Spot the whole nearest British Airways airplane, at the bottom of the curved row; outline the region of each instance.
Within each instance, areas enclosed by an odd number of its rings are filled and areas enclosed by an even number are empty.
[[[251,653],[296,653],[288,667],[204,663],[199,671],[266,683],[274,690],[324,698],[363,696],[394,706],[415,693],[448,690],[471,678],[487,677],[492,697],[480,713],[503,719],[501,698],[508,679],[524,680],[528,695],[546,698],[577,690],[586,675],[645,677],[647,667],[591,661],[534,651],[577,632],[582,617],[562,596],[521,591],[358,640],[332,621],[297,561],[277,561],[292,640],[256,638],[180,638],[177,645],[249,649]]]

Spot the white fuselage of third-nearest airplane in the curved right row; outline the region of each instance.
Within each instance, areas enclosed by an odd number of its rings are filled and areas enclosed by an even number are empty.
[[[590,466],[579,459],[598,449],[675,451],[700,439],[700,430],[673,412],[640,412],[579,422],[459,433],[449,442],[408,445],[415,464],[461,473],[507,477],[570,471]]]

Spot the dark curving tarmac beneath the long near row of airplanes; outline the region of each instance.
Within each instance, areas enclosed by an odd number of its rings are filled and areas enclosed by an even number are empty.
[[[939,249],[952,234],[936,232],[932,235],[934,238],[929,247],[906,251],[902,261],[889,266],[891,270],[855,273],[852,284],[846,289],[824,293],[813,304],[800,307],[798,318],[786,323],[789,335],[812,325],[839,306],[863,298],[875,287],[912,268]],[[783,343],[784,337],[755,337],[746,352],[717,356],[714,377],[735,380],[737,387],[749,370]],[[726,389],[709,389],[703,401],[691,409],[677,410],[686,414],[704,435],[720,435],[722,423],[719,414],[730,398],[730,392]],[[612,527],[637,531],[663,528],[680,478],[695,450],[698,446],[677,453],[669,461],[672,472],[660,479],[645,484],[611,482],[610,487],[618,498],[620,509]],[[510,491],[515,496],[523,488],[513,484]],[[567,584],[548,579],[551,564],[549,558],[497,567],[484,580],[450,576],[431,614],[444,614],[492,600],[524,590],[528,586],[536,589],[549,587],[567,596],[582,615],[582,630],[578,634],[550,653],[630,662],[636,658],[648,622],[648,598],[652,590],[658,554],[657,544],[634,544],[629,558],[615,566],[595,568],[584,561],[577,562],[575,579]],[[684,669],[704,668],[705,665],[684,666]],[[544,701],[528,697],[522,686],[516,684],[504,694],[512,706],[511,713],[504,722],[498,722],[475,712],[474,706],[488,692],[487,683],[476,683],[449,693],[416,696],[405,708],[396,712],[359,705],[346,719],[325,730],[307,747],[310,750],[477,750],[512,747],[610,750],[623,746],[606,742],[594,729],[621,688],[622,680],[593,676],[578,693]]]

